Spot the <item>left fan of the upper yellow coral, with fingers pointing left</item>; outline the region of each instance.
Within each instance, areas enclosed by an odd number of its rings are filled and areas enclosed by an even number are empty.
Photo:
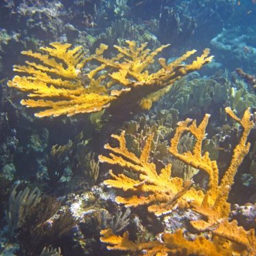
[[[14,71],[27,73],[27,76],[16,75],[8,85],[21,91],[32,92],[28,96],[36,99],[22,100],[21,104],[47,108],[36,113],[37,117],[91,113],[105,108],[113,97],[102,95],[104,88],[97,88],[97,81],[91,80],[89,84],[84,85],[79,78],[82,67],[93,56],[84,58],[82,47],[69,49],[71,45],[67,43],[50,45],[51,47],[40,48],[45,54],[22,52],[42,64],[26,61],[27,66],[14,65]],[[101,45],[96,54],[101,55],[104,49],[106,45]]]

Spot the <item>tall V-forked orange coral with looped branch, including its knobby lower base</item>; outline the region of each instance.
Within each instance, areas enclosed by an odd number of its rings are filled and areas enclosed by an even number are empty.
[[[226,229],[226,226],[229,226],[227,218],[230,214],[230,204],[227,202],[227,199],[229,197],[229,191],[233,185],[237,169],[250,148],[250,143],[246,143],[246,139],[251,131],[251,128],[253,128],[253,121],[250,120],[251,114],[249,110],[245,111],[242,119],[238,118],[233,113],[231,108],[226,108],[226,113],[228,113],[242,126],[243,132],[240,138],[240,143],[238,143],[234,149],[229,168],[224,173],[221,181],[219,181],[219,171],[216,161],[211,161],[211,159],[209,159],[208,152],[202,155],[202,139],[205,137],[207,118],[205,118],[198,127],[196,126],[195,122],[189,126],[191,121],[189,119],[180,122],[179,127],[176,130],[176,134],[171,141],[171,147],[169,150],[172,154],[174,154],[174,156],[176,156],[176,158],[204,172],[207,172],[209,175],[209,187],[205,193],[204,199],[202,200],[202,204],[197,205],[196,201],[191,202],[192,209],[202,214],[202,216],[205,216],[206,218],[205,220],[192,221],[191,224],[194,226],[194,228],[198,231],[213,231],[213,233],[218,233],[218,235],[222,234],[223,237],[231,237],[231,235],[233,235],[233,238],[230,239],[233,242],[241,244],[241,234],[235,236],[235,233],[240,233],[242,228],[238,228],[237,225],[235,226],[233,224],[234,228],[232,234],[228,231],[228,229]],[[191,134],[196,137],[196,144],[192,152],[184,152],[181,154],[178,152],[177,146],[183,132],[191,132]],[[225,229],[223,226],[225,226]],[[246,247],[249,250],[248,237],[245,234],[246,231],[244,231],[244,239],[247,241]]]

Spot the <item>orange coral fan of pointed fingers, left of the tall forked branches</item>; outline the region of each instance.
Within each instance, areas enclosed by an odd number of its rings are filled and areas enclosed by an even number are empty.
[[[117,196],[115,199],[117,203],[124,204],[126,207],[150,205],[148,211],[160,216],[166,211],[171,211],[174,205],[184,207],[191,199],[202,202],[202,191],[196,191],[192,188],[189,181],[183,182],[182,178],[170,177],[171,165],[167,165],[160,172],[157,172],[154,163],[148,162],[153,135],[148,137],[139,157],[128,151],[124,135],[124,131],[121,132],[120,136],[112,135],[113,138],[119,141],[119,148],[112,148],[109,144],[105,145],[107,150],[113,152],[110,153],[110,157],[99,156],[101,162],[118,164],[139,174],[136,180],[125,174],[115,175],[110,170],[109,173],[112,179],[104,181],[104,184],[124,191],[129,190],[134,194],[134,196],[128,198]],[[143,194],[145,195],[143,196]],[[159,203],[161,204],[159,205]]]

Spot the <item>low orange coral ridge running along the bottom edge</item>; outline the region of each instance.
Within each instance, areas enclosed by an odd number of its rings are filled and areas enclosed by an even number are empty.
[[[224,244],[220,238],[216,237],[213,242],[203,236],[199,236],[194,241],[188,241],[183,237],[183,231],[178,229],[175,233],[161,234],[161,241],[151,241],[135,244],[128,239],[129,233],[123,236],[115,235],[110,229],[100,232],[101,242],[110,244],[108,250],[130,251],[139,255],[202,255],[202,256],[232,256],[231,244]],[[141,253],[143,251],[143,253]]]

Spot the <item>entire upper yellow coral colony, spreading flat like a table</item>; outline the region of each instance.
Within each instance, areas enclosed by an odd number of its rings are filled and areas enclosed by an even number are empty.
[[[146,43],[140,47],[133,41],[127,43],[128,47],[116,46],[119,53],[111,59],[103,56],[108,48],[106,45],[100,45],[89,57],[84,57],[82,47],[70,49],[68,43],[51,43],[51,47],[40,48],[43,53],[23,51],[22,54],[37,62],[27,60],[24,66],[14,65],[14,71],[25,75],[14,76],[8,85],[29,92],[31,99],[22,100],[21,104],[43,109],[36,113],[37,117],[92,113],[104,108],[109,108],[110,114],[115,115],[118,111],[130,111],[143,97],[165,89],[174,80],[200,69],[212,58],[207,57],[209,50],[206,49],[191,64],[181,65],[195,52],[188,51],[170,65],[159,59],[162,68],[150,73],[148,68],[154,57],[168,45],[150,51],[145,49]],[[84,65],[91,63],[91,60],[97,60],[100,65],[89,67],[89,72],[83,74]],[[158,95],[148,96],[147,104],[143,103],[144,100],[141,106],[150,108],[152,101],[158,100],[161,95],[163,91],[160,90]]]

